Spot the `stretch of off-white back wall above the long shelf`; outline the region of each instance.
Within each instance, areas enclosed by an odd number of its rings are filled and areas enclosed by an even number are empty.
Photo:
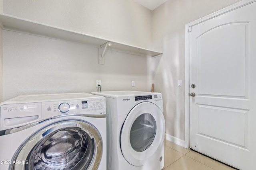
[[[152,11],[133,0],[3,1],[6,14],[152,48]]]

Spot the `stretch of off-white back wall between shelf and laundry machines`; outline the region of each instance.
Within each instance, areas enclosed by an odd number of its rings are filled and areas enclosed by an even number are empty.
[[[20,94],[151,90],[151,57],[4,30],[3,100]],[[135,80],[135,87],[131,81]]]

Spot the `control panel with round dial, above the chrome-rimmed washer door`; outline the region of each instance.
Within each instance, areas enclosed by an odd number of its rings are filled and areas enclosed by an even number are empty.
[[[42,102],[42,119],[62,114],[106,114],[105,98]]]

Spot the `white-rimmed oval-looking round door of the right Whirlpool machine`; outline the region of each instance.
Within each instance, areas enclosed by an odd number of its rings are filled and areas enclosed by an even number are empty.
[[[124,158],[134,166],[148,162],[164,138],[165,122],[161,109],[153,103],[142,102],[127,115],[120,143]]]

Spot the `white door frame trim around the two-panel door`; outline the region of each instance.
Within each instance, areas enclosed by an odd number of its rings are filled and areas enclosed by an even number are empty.
[[[246,6],[248,4],[251,4],[252,2],[256,2],[256,0],[242,0],[240,2],[237,2],[235,4],[232,4],[226,8],[223,8],[222,10],[219,10],[217,12],[214,12],[212,14],[209,14],[205,17],[202,17],[198,20],[192,21],[190,23],[187,23],[185,25],[185,148],[190,148],[190,122],[189,122],[189,116],[190,116],[190,109],[189,109],[189,90],[190,90],[190,32],[192,31],[192,27],[194,25],[198,25],[204,21],[211,20],[212,18],[215,18],[217,16],[220,16],[222,14],[225,14],[227,12],[230,12],[232,10],[236,10],[238,8],[241,8],[242,6]]]

